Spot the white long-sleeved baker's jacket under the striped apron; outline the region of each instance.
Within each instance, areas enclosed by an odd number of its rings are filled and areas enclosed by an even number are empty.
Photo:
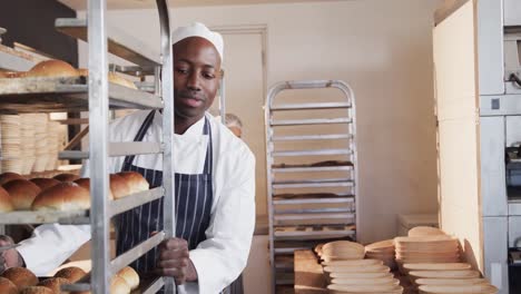
[[[110,141],[132,141],[149,111],[137,111],[110,124]],[[229,285],[246,266],[255,226],[255,157],[246,144],[224,125],[206,115],[212,128],[214,198],[206,241],[190,251],[197,283],[187,283],[188,293],[215,294]],[[183,135],[175,135],[174,170],[201,174],[208,136],[203,136],[205,119]],[[161,141],[163,117],[156,112],[142,141]],[[110,173],[119,173],[124,157],[110,158]],[[161,155],[136,156],[134,165],[163,170]],[[87,166],[87,164],[85,165]],[[88,176],[88,170],[85,170]],[[35,229],[18,251],[36,275],[46,275],[90,239],[90,226],[48,224]]]

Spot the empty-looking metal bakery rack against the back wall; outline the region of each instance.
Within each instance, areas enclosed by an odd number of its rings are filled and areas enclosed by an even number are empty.
[[[295,249],[356,238],[353,91],[338,80],[276,84],[265,124],[269,262],[281,293],[293,287]]]

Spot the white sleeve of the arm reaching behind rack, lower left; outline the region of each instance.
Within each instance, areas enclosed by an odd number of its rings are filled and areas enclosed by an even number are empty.
[[[37,227],[32,237],[20,242],[17,249],[27,268],[37,276],[46,276],[89,239],[90,225],[48,224]]]

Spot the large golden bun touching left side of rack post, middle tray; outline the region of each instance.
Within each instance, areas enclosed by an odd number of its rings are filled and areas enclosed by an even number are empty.
[[[90,208],[90,195],[72,182],[60,183],[41,192],[32,203],[32,210],[79,210]]]

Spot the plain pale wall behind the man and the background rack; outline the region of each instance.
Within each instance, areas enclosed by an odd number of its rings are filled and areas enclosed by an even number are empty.
[[[440,2],[354,0],[173,12],[176,26],[196,20],[208,26],[267,24],[268,85],[341,79],[353,87],[358,237],[373,242],[395,235],[396,214],[438,210],[432,16]],[[121,10],[108,13],[108,22],[156,46],[156,17],[154,10]],[[82,48],[80,53],[85,62]],[[257,199],[259,213],[265,214],[266,196]]]

